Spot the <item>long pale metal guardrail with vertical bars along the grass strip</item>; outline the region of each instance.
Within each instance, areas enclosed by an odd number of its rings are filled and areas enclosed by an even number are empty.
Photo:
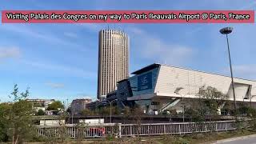
[[[101,138],[108,134],[116,137],[159,134],[189,134],[210,131],[235,130],[235,121],[179,122],[152,124],[105,123],[94,125],[37,126],[38,134],[57,138]]]

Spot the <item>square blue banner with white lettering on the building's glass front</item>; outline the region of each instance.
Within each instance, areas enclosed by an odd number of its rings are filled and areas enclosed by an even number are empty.
[[[138,91],[152,89],[152,72],[138,76]]]

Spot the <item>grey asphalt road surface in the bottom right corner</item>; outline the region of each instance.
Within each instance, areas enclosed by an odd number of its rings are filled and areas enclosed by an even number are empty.
[[[243,137],[243,138],[230,138],[226,140],[222,140],[220,142],[215,143],[222,143],[222,144],[256,144],[256,135]]]

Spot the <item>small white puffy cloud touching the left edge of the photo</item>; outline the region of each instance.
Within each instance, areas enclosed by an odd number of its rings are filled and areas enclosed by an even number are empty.
[[[18,47],[0,47],[0,61],[6,58],[19,58],[21,51]]]

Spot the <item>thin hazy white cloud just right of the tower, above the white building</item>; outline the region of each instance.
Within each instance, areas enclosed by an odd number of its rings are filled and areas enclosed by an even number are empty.
[[[136,53],[138,57],[150,59],[154,62],[166,63],[171,65],[181,65],[189,62],[195,50],[183,44],[165,42],[162,39],[146,33],[136,27],[129,29],[134,35],[133,41],[136,43]]]

